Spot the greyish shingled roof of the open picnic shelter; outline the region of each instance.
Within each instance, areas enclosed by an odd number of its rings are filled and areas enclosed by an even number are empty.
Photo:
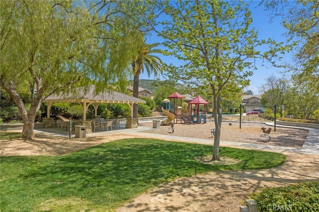
[[[135,98],[116,91],[105,91],[95,94],[95,86],[91,85],[87,91],[83,87],[79,88],[75,94],[51,95],[44,100],[50,103],[118,103],[118,104],[146,104],[145,100]]]

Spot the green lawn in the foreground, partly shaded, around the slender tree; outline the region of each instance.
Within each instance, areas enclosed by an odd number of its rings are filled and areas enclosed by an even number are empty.
[[[267,169],[285,155],[220,148],[235,165],[198,163],[211,145],[124,139],[63,156],[1,157],[0,211],[115,211],[150,188],[178,177],[221,170]]]

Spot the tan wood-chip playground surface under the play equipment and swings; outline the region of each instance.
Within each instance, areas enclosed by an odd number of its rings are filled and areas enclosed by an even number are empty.
[[[232,125],[229,125],[229,123],[232,123]],[[151,122],[140,123],[140,125],[152,127]],[[241,125],[241,129],[239,129],[239,121],[223,121],[221,126],[220,140],[301,148],[308,135],[308,131],[302,129],[277,127],[276,131],[271,131],[270,141],[264,142],[263,137],[260,136],[261,134],[264,134],[261,127],[273,128],[272,126],[267,126],[266,124],[260,122],[242,122]],[[174,133],[171,133],[169,126],[166,125],[161,125],[160,128],[151,128],[145,132],[211,139],[213,144],[214,138],[211,135],[210,129],[214,127],[214,121],[207,121],[206,124],[174,124]]]

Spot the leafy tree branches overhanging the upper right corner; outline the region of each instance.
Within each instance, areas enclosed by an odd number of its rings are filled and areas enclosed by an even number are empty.
[[[273,16],[283,17],[283,26],[289,31],[288,40],[295,39],[299,45],[294,55],[298,66],[288,64],[300,81],[311,81],[317,86],[314,92],[319,93],[319,0],[297,1],[263,1]]]

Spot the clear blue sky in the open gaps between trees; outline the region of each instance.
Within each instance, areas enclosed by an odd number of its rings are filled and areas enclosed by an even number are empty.
[[[251,26],[255,27],[258,30],[258,36],[260,39],[268,39],[272,38],[275,39],[277,42],[285,41],[286,37],[283,35],[285,32],[287,32],[287,29],[281,25],[281,17],[273,19],[273,22],[270,23],[270,12],[264,11],[264,6],[258,5],[260,1],[252,1],[251,2],[251,12],[253,17],[253,23]],[[162,40],[159,39],[156,36],[148,37],[147,43],[155,43],[155,42],[161,42]],[[263,52],[263,49],[260,49],[261,52]],[[279,63],[287,63],[291,60],[291,53],[287,53],[285,55],[282,55],[284,58]],[[176,61],[173,57],[167,57],[160,55],[161,60],[166,64],[182,64],[181,61]],[[257,70],[254,71],[253,76],[249,77],[251,80],[250,86],[246,90],[251,90],[255,95],[259,95],[259,88],[266,83],[265,79],[269,77],[270,75],[275,75],[276,77],[282,77],[284,69],[276,68],[276,67],[270,67],[267,68],[265,66],[262,66],[262,61],[256,62]],[[147,76],[147,73],[142,73],[140,75],[140,79],[151,79],[154,80],[154,75],[151,75],[150,78]],[[161,79],[163,79],[161,77]]]

